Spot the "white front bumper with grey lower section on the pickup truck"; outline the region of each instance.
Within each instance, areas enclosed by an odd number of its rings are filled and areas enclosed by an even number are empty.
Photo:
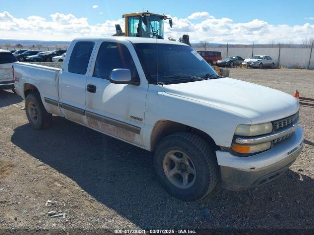
[[[303,130],[298,126],[287,141],[253,156],[236,157],[229,152],[216,151],[222,187],[229,190],[254,188],[279,177],[300,155],[302,146]]]

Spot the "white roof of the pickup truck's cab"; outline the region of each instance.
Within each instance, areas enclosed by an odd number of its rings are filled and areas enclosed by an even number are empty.
[[[121,36],[108,36],[108,37],[82,37],[76,38],[75,41],[83,41],[83,40],[102,40],[102,39],[115,39],[117,42],[119,41],[130,41],[131,43],[159,43],[159,44],[176,44],[176,45],[184,45],[188,46],[184,43],[170,41],[166,39],[156,39],[156,38],[140,38],[140,37],[121,37]]]

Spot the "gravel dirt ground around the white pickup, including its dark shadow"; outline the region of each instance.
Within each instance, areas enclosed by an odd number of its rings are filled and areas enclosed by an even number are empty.
[[[285,82],[294,80],[291,72],[281,75]],[[313,94],[313,79],[299,89]],[[23,106],[0,91],[0,229],[314,227],[314,108],[300,109],[304,148],[282,177],[238,192],[218,185],[186,203],[160,187],[151,153],[55,116],[52,127],[34,130]]]

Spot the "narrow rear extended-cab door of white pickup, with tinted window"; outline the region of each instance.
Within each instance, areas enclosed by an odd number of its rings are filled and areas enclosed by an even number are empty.
[[[78,41],[69,48],[59,81],[59,105],[65,118],[86,125],[85,90],[97,41]]]

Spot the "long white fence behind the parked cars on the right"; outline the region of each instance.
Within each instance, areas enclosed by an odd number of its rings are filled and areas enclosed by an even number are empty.
[[[194,49],[204,50],[204,47]],[[311,47],[206,47],[206,50],[220,51],[223,59],[232,55],[242,58],[251,58],[252,54],[269,55],[279,67],[314,69],[314,48]]]

